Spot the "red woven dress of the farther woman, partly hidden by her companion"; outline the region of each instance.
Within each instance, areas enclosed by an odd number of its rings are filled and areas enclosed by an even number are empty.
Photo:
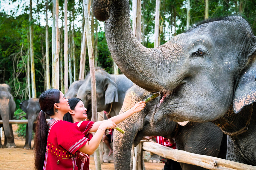
[[[92,134],[89,133],[89,131],[91,130],[94,122],[92,121],[82,121],[82,122],[76,122],[74,123],[75,125],[77,125],[80,128],[80,131],[84,134],[84,136],[86,138],[88,138],[89,140],[92,138]],[[81,159],[79,159],[79,151],[77,153],[77,159],[76,159],[76,165],[78,167],[78,170],[88,170],[89,169],[89,165],[90,165],[90,155],[89,159],[87,159],[87,162],[83,163],[81,161]]]

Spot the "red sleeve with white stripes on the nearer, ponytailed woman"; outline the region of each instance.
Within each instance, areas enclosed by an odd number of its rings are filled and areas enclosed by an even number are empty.
[[[61,128],[58,129],[58,145],[65,148],[72,154],[75,154],[78,149],[86,144],[88,138],[81,133],[78,126],[73,123],[62,121]]]

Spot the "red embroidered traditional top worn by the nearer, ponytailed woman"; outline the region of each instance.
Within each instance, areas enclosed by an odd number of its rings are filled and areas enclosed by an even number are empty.
[[[78,170],[77,151],[89,140],[73,123],[50,120],[43,170]]]

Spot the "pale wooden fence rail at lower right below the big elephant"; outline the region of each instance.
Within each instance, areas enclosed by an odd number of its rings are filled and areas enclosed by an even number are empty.
[[[143,150],[155,153],[177,162],[192,164],[212,170],[256,170],[256,166],[233,162],[212,156],[189,153],[184,150],[172,149],[155,142],[143,142]]]

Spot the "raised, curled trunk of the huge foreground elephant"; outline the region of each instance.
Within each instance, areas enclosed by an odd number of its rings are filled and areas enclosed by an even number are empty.
[[[94,0],[93,14],[100,21],[106,20],[111,55],[131,81],[149,92],[173,90],[165,82],[173,77],[174,67],[179,67],[175,61],[181,53],[179,45],[169,41],[157,48],[144,47],[132,33],[128,0]]]

